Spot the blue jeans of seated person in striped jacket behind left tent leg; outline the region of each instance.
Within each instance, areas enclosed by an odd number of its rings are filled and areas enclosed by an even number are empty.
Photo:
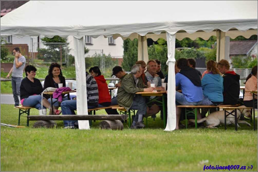
[[[76,115],[74,110],[77,109],[77,105],[76,105],[77,100],[65,100],[62,101],[61,103],[61,110],[62,110],[62,115]],[[88,105],[88,109],[93,109],[96,106],[89,106]],[[70,126],[70,127],[74,127],[74,123],[78,123],[78,120],[64,120],[64,125],[65,127]]]

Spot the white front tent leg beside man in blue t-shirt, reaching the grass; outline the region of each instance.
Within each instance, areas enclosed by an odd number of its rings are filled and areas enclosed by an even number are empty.
[[[164,131],[173,131],[176,128],[176,107],[175,107],[175,40],[176,35],[167,35],[167,65],[168,65],[168,84],[167,84],[167,126]],[[165,112],[163,112],[165,113]]]

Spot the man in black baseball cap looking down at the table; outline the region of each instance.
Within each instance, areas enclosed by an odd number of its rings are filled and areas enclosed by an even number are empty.
[[[119,78],[119,82],[115,85],[115,87],[117,88],[117,93],[119,91],[119,88],[121,87],[121,83],[124,79],[124,77],[126,75],[128,75],[127,73],[125,73],[122,69],[122,67],[120,66],[115,66],[113,69],[112,69],[113,73],[111,76],[115,75],[117,78]],[[113,97],[111,99],[111,105],[117,105],[117,96],[116,97]],[[119,115],[119,113],[117,112],[116,109],[105,109],[107,114],[109,115]],[[122,121],[123,122],[123,121]]]

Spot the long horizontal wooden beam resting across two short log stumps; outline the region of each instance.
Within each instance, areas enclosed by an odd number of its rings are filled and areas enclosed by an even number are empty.
[[[126,120],[128,115],[31,115],[29,121],[50,120]]]

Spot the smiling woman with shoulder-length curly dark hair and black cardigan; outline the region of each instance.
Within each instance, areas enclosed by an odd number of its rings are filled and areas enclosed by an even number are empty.
[[[58,84],[62,83],[63,87],[66,87],[65,77],[63,77],[61,66],[58,63],[51,63],[49,66],[49,74],[45,77],[44,88],[59,88]],[[64,95],[62,95],[64,96]],[[50,96],[44,94],[44,97],[51,102]],[[67,97],[63,100],[67,100]],[[57,101],[57,99],[53,99],[53,102]],[[60,103],[57,101],[54,103],[54,111],[58,110]]]

